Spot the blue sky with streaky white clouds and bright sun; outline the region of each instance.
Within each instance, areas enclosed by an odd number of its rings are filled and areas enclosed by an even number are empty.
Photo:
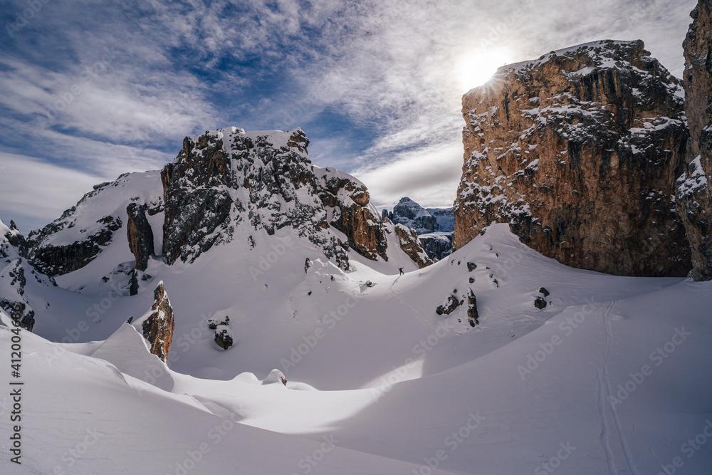
[[[6,0],[0,219],[43,226],[186,135],[301,127],[377,207],[451,206],[461,95],[493,68],[642,39],[680,77],[694,0]],[[486,76],[486,74],[485,74]]]

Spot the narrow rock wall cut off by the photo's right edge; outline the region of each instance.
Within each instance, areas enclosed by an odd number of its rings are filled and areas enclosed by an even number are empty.
[[[690,147],[677,184],[677,204],[692,251],[692,276],[712,280],[712,1],[691,14],[685,52],[685,110]]]

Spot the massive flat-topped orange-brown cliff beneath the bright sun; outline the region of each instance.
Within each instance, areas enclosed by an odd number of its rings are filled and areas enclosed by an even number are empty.
[[[506,222],[568,266],[686,276],[674,212],[688,132],[678,80],[642,41],[599,41],[500,68],[463,97],[454,246]]]

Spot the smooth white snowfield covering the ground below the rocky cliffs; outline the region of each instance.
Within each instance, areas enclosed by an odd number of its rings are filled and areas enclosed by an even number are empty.
[[[92,268],[65,276],[81,294],[28,279],[51,306],[36,308],[37,335],[22,333],[23,465],[5,459],[3,473],[176,474],[193,454],[188,473],[413,474],[442,451],[449,473],[518,474],[560,444],[575,447],[560,473],[658,473],[676,456],[686,473],[712,464],[706,447],[681,451],[712,417],[712,283],[567,268],[503,224],[404,276],[390,254],[352,256],[344,273],[293,231],[251,234],[251,250],[236,235],[193,264],[151,261],[155,278],[141,285],[163,281],[174,307],[167,365],[125,324],[152,292],[110,301]],[[480,325],[467,306],[436,315],[469,289]],[[239,335],[229,350],[206,325],[225,316]],[[0,325],[1,361],[10,338]],[[619,385],[632,390],[616,402]]]

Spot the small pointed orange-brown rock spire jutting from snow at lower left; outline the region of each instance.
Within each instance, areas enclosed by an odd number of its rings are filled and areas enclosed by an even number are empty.
[[[151,310],[132,323],[132,325],[148,341],[151,353],[165,362],[173,340],[175,319],[173,307],[168,299],[163,282],[159,282],[154,291],[154,302]]]

